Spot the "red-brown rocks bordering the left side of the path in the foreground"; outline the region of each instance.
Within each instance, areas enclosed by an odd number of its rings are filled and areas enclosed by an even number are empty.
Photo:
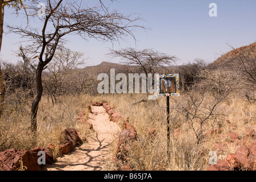
[[[87,123],[86,115],[83,112],[79,112],[78,121],[89,125],[92,130],[93,125]],[[11,148],[6,151],[0,152],[0,171],[40,171],[41,165],[38,164],[38,159],[41,155],[38,155],[39,151],[45,152],[46,164],[53,164],[53,150],[58,150],[59,155],[69,154],[74,151],[76,146],[86,141],[85,136],[81,136],[79,131],[69,127],[62,131],[62,141],[59,145],[53,143],[48,144],[46,148],[35,147],[32,150],[23,150]]]

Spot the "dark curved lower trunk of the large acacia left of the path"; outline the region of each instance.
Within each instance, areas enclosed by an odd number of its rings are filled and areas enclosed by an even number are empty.
[[[35,97],[32,106],[31,106],[31,133],[36,134],[37,132],[37,111],[38,105],[41,101],[42,94],[43,94],[43,85],[42,85],[42,71],[44,65],[42,63],[38,64],[37,71],[35,72],[35,79],[37,82],[37,97]]]

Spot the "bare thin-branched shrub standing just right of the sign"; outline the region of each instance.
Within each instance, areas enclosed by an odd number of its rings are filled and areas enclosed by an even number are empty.
[[[203,129],[206,126],[213,126],[221,115],[218,106],[235,89],[241,86],[238,81],[238,72],[222,71],[220,69],[201,71],[198,76],[200,82],[196,82],[191,89],[182,93],[182,99],[171,97],[174,107],[182,114],[193,129],[197,137],[197,143],[202,142]],[[212,121],[212,122],[211,122]],[[221,127],[221,125],[219,125]]]

